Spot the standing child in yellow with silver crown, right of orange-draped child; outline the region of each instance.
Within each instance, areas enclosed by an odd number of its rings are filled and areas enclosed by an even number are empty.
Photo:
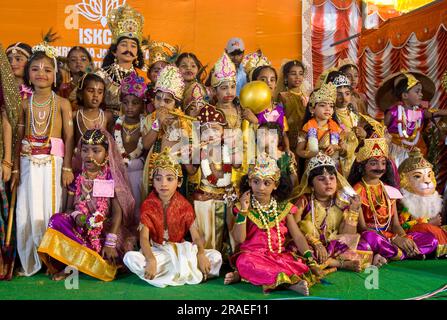
[[[340,158],[340,166],[343,176],[347,177],[355,161],[355,150],[359,139],[364,139],[366,132],[360,126],[362,118],[353,104],[353,89],[348,77],[341,72],[336,72],[331,82],[337,88],[335,116],[343,129],[346,144],[346,155]]]

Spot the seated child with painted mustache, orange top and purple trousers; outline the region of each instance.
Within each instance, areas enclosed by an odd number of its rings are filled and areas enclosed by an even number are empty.
[[[430,233],[406,233],[402,228],[396,206],[402,194],[388,157],[385,128],[377,124],[374,129],[360,145],[348,180],[362,201],[358,249],[373,251],[373,264],[380,267],[388,260],[423,258],[436,250],[438,240]]]

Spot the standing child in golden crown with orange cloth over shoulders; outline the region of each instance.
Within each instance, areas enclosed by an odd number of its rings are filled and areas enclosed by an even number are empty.
[[[342,129],[333,119],[337,90],[333,83],[324,83],[310,96],[304,126],[298,136],[296,153],[311,159],[322,152],[339,167],[340,156],[346,156]]]

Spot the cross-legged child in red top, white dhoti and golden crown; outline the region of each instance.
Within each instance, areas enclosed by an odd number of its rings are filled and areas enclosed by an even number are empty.
[[[141,251],[131,251],[124,263],[140,279],[164,288],[198,284],[219,276],[222,256],[205,250],[194,209],[178,191],[182,168],[169,149],[152,154],[150,179],[154,190],[141,206]],[[187,233],[192,241],[184,240]]]

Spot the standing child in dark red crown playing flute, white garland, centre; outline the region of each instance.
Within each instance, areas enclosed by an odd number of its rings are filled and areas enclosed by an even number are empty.
[[[227,225],[231,223],[228,212],[235,196],[231,182],[232,155],[224,141],[227,121],[222,111],[209,104],[201,108],[197,119],[201,133],[201,180],[193,195],[196,222],[205,248],[216,249],[225,258],[231,252]]]

